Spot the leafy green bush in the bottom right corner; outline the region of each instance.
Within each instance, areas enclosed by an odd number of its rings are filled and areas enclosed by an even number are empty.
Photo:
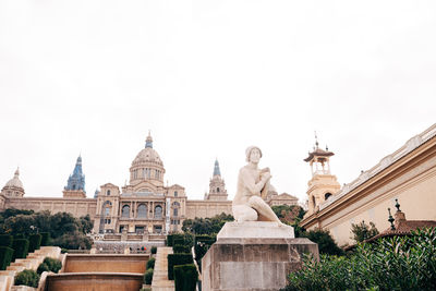
[[[350,257],[306,257],[282,290],[436,290],[436,228],[360,244]]]

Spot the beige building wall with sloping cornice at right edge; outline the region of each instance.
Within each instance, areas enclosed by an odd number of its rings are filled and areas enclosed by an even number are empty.
[[[395,199],[408,220],[436,220],[436,124],[363,172],[302,221],[306,229],[328,229],[339,245],[352,244],[351,223],[364,220],[379,231],[390,225]]]

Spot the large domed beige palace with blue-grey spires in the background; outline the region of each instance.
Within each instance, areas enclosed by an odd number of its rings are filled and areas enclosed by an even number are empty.
[[[165,185],[165,172],[164,162],[148,134],[145,147],[131,163],[130,180],[124,186],[106,183],[96,191],[94,198],[87,198],[82,157],[78,157],[62,197],[25,197],[16,170],[14,178],[1,191],[0,208],[49,210],[52,214],[66,211],[75,217],[89,215],[96,233],[177,232],[185,219],[231,214],[231,201],[228,199],[218,160],[214,165],[209,192],[202,201],[187,199],[185,189],[179,184]],[[296,205],[298,198],[271,191],[267,202],[270,205]]]

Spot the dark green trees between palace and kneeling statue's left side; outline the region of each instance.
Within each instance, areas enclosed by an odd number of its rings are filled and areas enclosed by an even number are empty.
[[[222,226],[228,221],[233,221],[234,218],[231,215],[225,213],[216,215],[211,218],[195,218],[186,219],[183,221],[182,230],[184,232],[191,232],[195,234],[216,234]]]

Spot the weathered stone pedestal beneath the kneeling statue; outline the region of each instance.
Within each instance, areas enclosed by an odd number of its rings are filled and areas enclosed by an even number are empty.
[[[318,246],[294,239],[292,227],[276,222],[228,222],[202,259],[204,291],[278,290],[299,269],[304,253],[318,258]]]

